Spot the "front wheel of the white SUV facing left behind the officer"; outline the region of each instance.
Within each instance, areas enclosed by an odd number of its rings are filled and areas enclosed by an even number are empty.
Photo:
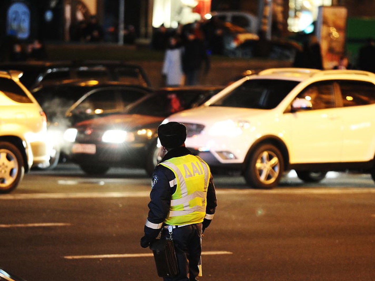
[[[245,180],[253,188],[272,188],[278,185],[284,172],[281,152],[272,144],[258,146],[250,155]]]

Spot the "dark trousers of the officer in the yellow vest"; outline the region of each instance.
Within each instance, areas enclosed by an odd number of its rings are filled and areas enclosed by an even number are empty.
[[[162,230],[161,238],[169,237],[168,229]],[[190,224],[172,230],[172,239],[178,262],[178,275],[163,278],[164,281],[191,281],[198,276],[198,265],[201,260],[202,224]],[[189,277],[188,277],[189,273]]]

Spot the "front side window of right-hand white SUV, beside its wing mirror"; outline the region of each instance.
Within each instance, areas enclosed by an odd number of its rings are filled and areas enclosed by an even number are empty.
[[[301,91],[297,98],[309,100],[313,110],[335,107],[333,84],[329,81],[316,82],[309,85]]]

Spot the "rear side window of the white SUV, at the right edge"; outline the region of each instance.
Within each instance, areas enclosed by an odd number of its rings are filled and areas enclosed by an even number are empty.
[[[365,81],[337,81],[340,85],[344,106],[370,105],[375,103],[375,85]]]

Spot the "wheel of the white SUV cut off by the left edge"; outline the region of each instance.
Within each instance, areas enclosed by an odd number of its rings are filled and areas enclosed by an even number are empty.
[[[8,142],[0,142],[0,193],[9,193],[17,187],[25,173],[20,150]]]

